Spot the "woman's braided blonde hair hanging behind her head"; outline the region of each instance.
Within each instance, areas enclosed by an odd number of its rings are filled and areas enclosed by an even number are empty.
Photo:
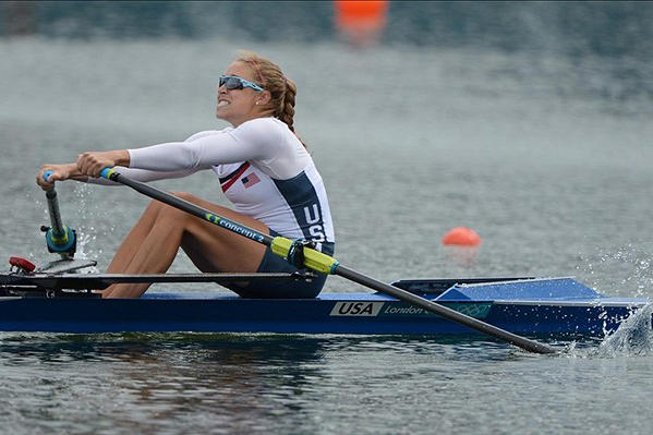
[[[237,61],[246,63],[254,72],[258,85],[270,93],[269,106],[273,117],[283,121],[290,131],[295,133],[293,123],[297,86],[294,82],[283,75],[279,65],[253,51],[241,51]],[[300,141],[306,146],[301,138]]]

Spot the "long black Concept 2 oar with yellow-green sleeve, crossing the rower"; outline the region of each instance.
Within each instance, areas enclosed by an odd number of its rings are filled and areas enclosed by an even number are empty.
[[[132,180],[125,176],[120,174],[114,168],[105,168],[100,172],[100,177],[107,180],[111,180],[124,185],[128,185],[134,189],[142,194],[149,196],[154,200],[160,201],[161,203],[168,204],[172,207],[179,208],[183,212],[186,212],[193,216],[196,216],[201,219],[204,219],[208,222],[217,225],[218,227],[225,228],[229,231],[235,232],[244,238],[253,240],[255,242],[262,243],[266,246],[270,246],[273,252],[282,257],[288,257],[291,249],[297,249],[297,245],[293,245],[293,241],[290,239],[286,239],[282,237],[270,237],[268,234],[264,234],[259,231],[256,231],[252,228],[245,227],[233,220],[223,218],[221,216],[217,216],[214,213],[198,207],[195,204],[189,203],[188,201],[181,200],[177,196],[173,196],[169,193],[160,191],[156,188],[147,185],[136,180]],[[380,293],[385,293],[397,298],[400,301],[410,303],[412,305],[419,306],[434,314],[438,314],[451,322],[456,322],[460,325],[467,326],[468,328],[477,330],[482,334],[498,338],[503,341],[509,342],[513,346],[517,346],[521,349],[528,350],[530,352],[535,353],[556,353],[557,350],[551,346],[530,340],[524,337],[520,337],[507,330],[497,328],[496,326],[489,325],[485,322],[479,321],[477,318],[470,317],[462,313],[459,313],[455,310],[448,309],[444,305],[439,305],[435,302],[428,301],[424,298],[420,298],[416,294],[410,293],[406,290],[399,289],[397,287],[392,287],[383,281],[371,278],[366,275],[358,273],[353,269],[344,267],[334,257],[323,254],[319,251],[313,250],[311,247],[303,246],[304,250],[304,266],[307,268],[329,275],[339,275],[343,278],[347,278],[351,281],[358,282],[362,286],[365,286],[370,289],[376,290]]]

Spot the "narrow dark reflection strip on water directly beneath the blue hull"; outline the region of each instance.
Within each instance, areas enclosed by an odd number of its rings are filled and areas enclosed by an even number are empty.
[[[304,336],[241,335],[204,333],[152,333],[60,335],[2,333],[0,355],[4,364],[21,364],[24,359],[40,363],[66,361],[150,362],[161,352],[179,352],[179,362],[218,363],[220,365],[288,364],[319,362],[325,352],[394,351],[433,352],[452,349],[464,351],[483,346],[505,354],[504,343],[493,343],[470,335],[433,336]],[[455,352],[456,353],[456,352]],[[465,355],[468,358],[469,355]],[[487,360],[484,354],[483,360]],[[158,361],[165,362],[165,361]]]

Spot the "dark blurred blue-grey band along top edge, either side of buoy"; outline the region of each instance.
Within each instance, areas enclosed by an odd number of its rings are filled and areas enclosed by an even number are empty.
[[[4,1],[0,36],[337,38],[331,1]],[[382,44],[653,55],[653,3],[390,1]]]

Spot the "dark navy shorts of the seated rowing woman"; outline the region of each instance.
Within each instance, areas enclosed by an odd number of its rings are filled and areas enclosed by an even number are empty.
[[[275,231],[270,230],[271,237],[279,235]],[[334,255],[335,244],[324,242],[322,243],[322,252],[327,255]],[[273,250],[267,246],[265,254],[258,266],[259,273],[294,273],[294,271],[307,271],[307,269],[298,269],[281,256],[275,254]],[[312,299],[319,294],[324,283],[326,282],[327,275],[314,273],[314,277],[311,280],[304,279],[270,279],[270,280],[253,280],[244,286],[228,285],[230,290],[237,292],[242,298],[251,299]]]

